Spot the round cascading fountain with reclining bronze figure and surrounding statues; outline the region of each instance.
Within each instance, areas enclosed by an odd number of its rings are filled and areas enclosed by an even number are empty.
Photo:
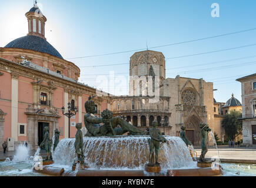
[[[62,139],[58,145],[54,143],[53,149],[48,130],[46,130],[41,146],[47,149],[48,160],[52,157],[54,163],[37,169],[34,167],[35,172],[53,176],[212,176],[222,174],[220,168],[197,167],[197,162],[189,152],[188,142],[184,142],[181,137],[162,136],[157,129],[156,121],[153,122],[152,129],[143,131],[119,116],[112,117],[113,114],[108,109],[102,112],[102,117],[95,116],[95,104],[92,100],[85,103],[85,109],[87,113],[84,116],[84,123],[88,130],[86,136],[82,137],[82,123],[77,123],[75,138]],[[58,130],[55,132],[56,135],[52,137],[54,141],[58,140],[59,133]],[[129,133],[131,136],[124,136],[124,133]],[[22,149],[23,147],[18,150]],[[39,152],[40,147],[33,157],[34,160],[38,159]],[[28,153],[25,156],[27,157]]]

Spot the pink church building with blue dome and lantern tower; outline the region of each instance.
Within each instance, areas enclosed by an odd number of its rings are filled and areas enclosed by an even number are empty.
[[[51,137],[56,128],[60,139],[68,137],[68,117],[61,110],[64,106],[67,111],[68,102],[78,110],[70,120],[70,137],[75,137],[75,123],[82,122],[85,131],[84,103],[96,89],[79,83],[78,66],[46,41],[46,18],[36,5],[26,17],[28,34],[0,48],[0,143],[12,138],[15,147],[26,141],[36,149],[45,126]],[[94,100],[98,115],[109,108],[108,97]]]

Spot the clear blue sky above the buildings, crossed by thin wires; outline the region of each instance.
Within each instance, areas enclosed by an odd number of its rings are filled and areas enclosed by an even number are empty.
[[[211,4],[220,5],[220,18],[211,17]],[[45,36],[65,59],[148,48],[256,28],[254,0],[168,0],[168,1],[49,1],[38,0],[48,19]],[[33,6],[28,0],[0,0],[0,46],[25,36],[25,13]],[[9,18],[9,19],[8,19]],[[256,43],[256,30],[181,45],[155,48],[165,58],[191,55]],[[129,64],[83,68],[82,66],[128,63],[134,52],[91,58],[70,59],[81,69],[81,82],[96,86],[95,74],[128,76]],[[214,82],[214,98],[226,102],[234,93],[241,100],[241,83],[235,81],[255,73],[256,46],[168,59],[166,77],[180,75]],[[218,63],[214,63],[218,62]],[[207,65],[195,66],[208,63]],[[247,63],[245,65],[236,65]],[[185,67],[184,67],[185,66]],[[188,67],[186,67],[188,66]],[[221,66],[228,66],[221,68]],[[184,68],[181,68],[184,67]],[[179,69],[177,69],[179,68]],[[200,70],[199,70],[200,69]],[[201,70],[206,69],[206,70]],[[199,70],[199,71],[192,71]],[[191,71],[191,72],[189,72]],[[120,86],[123,87],[123,86]],[[120,93],[127,94],[127,93]]]

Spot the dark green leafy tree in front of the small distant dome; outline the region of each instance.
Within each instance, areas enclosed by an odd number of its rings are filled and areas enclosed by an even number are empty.
[[[242,113],[231,110],[230,114],[226,114],[221,122],[222,127],[224,127],[226,135],[232,140],[242,133]]]

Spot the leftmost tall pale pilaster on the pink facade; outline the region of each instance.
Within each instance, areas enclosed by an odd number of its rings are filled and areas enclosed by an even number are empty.
[[[14,141],[18,141],[18,78],[19,75],[11,73],[12,75],[12,102],[11,102],[11,136]]]

